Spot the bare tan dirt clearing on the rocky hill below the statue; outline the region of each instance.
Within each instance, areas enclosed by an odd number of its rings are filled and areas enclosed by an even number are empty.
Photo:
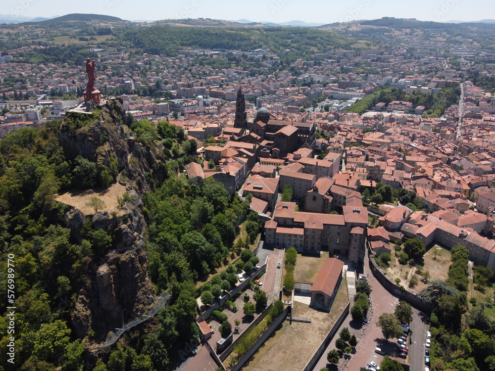
[[[120,216],[124,214],[124,211],[120,209],[117,202],[117,197],[121,197],[125,191],[125,185],[121,185],[116,182],[115,184],[112,184],[108,188],[104,189],[93,188],[85,190],[72,190],[59,195],[55,198],[55,200],[77,207],[84,215],[94,215],[95,210],[89,206],[86,206],[86,203],[90,201],[91,197],[98,197],[100,200],[105,202],[105,207],[103,210],[108,211],[108,213],[115,211],[117,215]]]

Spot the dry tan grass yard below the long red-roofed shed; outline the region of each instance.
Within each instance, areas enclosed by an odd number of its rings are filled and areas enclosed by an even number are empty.
[[[299,264],[299,263],[297,263]],[[342,280],[330,313],[295,302],[294,316],[310,324],[284,322],[249,360],[245,371],[300,371],[336,323],[348,302],[346,278]],[[286,325],[288,325],[286,327]]]

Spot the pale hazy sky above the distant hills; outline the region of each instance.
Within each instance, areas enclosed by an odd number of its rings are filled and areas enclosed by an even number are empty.
[[[96,13],[127,20],[216,18],[333,23],[384,16],[423,21],[495,18],[494,0],[1,0],[0,14],[51,17]]]

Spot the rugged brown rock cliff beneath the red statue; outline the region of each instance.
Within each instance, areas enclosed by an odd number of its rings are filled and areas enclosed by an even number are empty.
[[[126,202],[126,214],[111,218],[108,213],[95,215],[92,225],[113,236],[112,246],[105,253],[88,257],[87,279],[80,289],[72,313],[77,336],[85,345],[95,349],[86,336],[93,329],[96,339],[106,336],[111,327],[120,328],[132,313],[144,313],[152,305],[154,294],[147,274],[142,196],[149,191],[145,174],[152,173],[155,161],[152,150],[128,138],[122,125],[125,110],[121,99],[112,99],[93,112],[68,112],[60,130],[60,139],[68,158],[82,156],[108,168],[118,164],[126,170],[127,189],[132,201]],[[129,161],[134,157],[135,160]],[[114,165],[115,166],[115,165]],[[84,216],[77,209],[66,214],[72,235],[81,241]]]

